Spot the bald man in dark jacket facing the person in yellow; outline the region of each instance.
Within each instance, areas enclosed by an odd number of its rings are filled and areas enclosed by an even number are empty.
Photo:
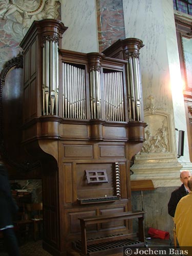
[[[172,217],[175,216],[176,207],[180,199],[189,193],[189,188],[187,186],[189,177],[189,170],[182,170],[180,173],[180,180],[183,184],[179,188],[175,189],[170,196],[170,200],[168,202],[168,214]]]

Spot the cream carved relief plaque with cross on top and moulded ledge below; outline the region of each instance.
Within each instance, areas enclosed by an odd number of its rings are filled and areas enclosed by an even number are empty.
[[[150,104],[144,111],[144,120],[148,124],[145,128],[146,141],[135,156],[131,179],[151,179],[156,181],[155,187],[168,186],[174,184],[182,165],[177,159],[172,116],[157,107],[154,98],[153,95],[148,96]]]

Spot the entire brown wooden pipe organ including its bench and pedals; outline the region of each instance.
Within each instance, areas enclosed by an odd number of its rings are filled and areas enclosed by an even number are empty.
[[[115,254],[126,243],[144,243],[144,212],[132,211],[130,185],[130,161],[142,148],[146,125],[142,41],[125,39],[126,58],[115,59],[59,49],[66,29],[58,20],[34,22],[20,44],[29,108],[23,143],[42,166],[43,246],[54,255]],[[139,220],[134,242],[133,218]]]

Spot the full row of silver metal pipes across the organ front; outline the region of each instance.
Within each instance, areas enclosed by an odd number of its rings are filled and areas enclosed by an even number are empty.
[[[127,38],[123,41],[124,59],[127,60],[127,105],[130,121],[140,121],[141,82],[139,72],[139,49],[142,41]],[[103,85],[100,80],[101,53],[89,53],[90,111],[91,119],[104,118],[108,121],[124,121],[124,83],[122,70],[103,68]],[[86,119],[86,65],[62,63],[62,117]],[[59,56],[55,37],[46,36],[42,47],[42,113],[58,115],[59,99]],[[102,88],[101,88],[102,87]],[[101,95],[104,92],[104,95]],[[101,117],[101,98],[104,100],[104,116]]]

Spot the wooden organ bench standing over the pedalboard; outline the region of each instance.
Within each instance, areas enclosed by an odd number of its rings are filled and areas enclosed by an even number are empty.
[[[79,218],[81,226],[81,243],[75,244],[74,246],[81,247],[81,255],[111,255],[113,253],[122,251],[123,246],[135,246],[144,245],[144,229],[143,229],[143,215],[144,211],[129,211],[123,212],[116,215],[104,215],[90,218]],[[138,238],[139,242],[129,239],[128,234],[123,236],[109,236],[105,238],[87,240],[87,225],[100,224],[105,222],[114,222],[117,220],[130,220],[138,218]],[[108,242],[110,244],[108,245]],[[94,245],[94,246],[92,246]],[[90,246],[90,248],[89,248]],[[111,247],[111,249],[110,249]],[[88,249],[89,248],[89,249]],[[102,248],[102,251],[100,250]]]

